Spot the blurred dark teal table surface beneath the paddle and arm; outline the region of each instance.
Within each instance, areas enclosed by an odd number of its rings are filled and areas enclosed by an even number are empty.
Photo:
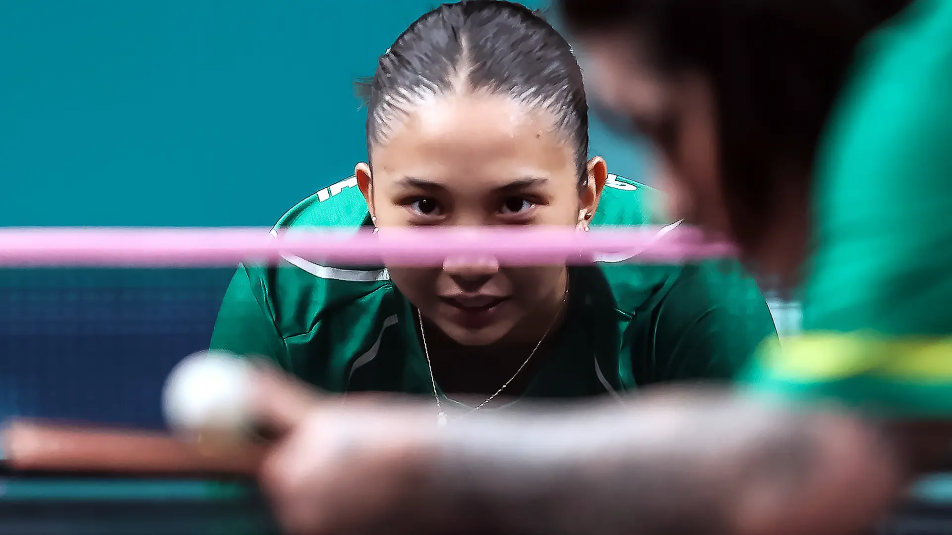
[[[952,476],[929,478],[880,535],[952,533]],[[280,535],[248,481],[0,477],[0,533]]]

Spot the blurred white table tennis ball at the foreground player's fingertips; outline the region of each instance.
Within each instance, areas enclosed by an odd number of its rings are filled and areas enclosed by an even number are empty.
[[[253,426],[253,367],[228,351],[199,351],[176,365],[162,393],[166,423],[188,435],[239,439]]]

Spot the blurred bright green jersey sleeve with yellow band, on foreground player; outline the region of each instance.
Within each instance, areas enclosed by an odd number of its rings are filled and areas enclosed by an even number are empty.
[[[867,40],[827,134],[803,336],[751,378],[952,416],[952,2],[919,0]]]

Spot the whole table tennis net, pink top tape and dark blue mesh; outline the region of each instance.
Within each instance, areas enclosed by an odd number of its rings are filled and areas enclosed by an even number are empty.
[[[271,264],[299,268],[300,262],[291,259],[301,260],[296,255],[306,251],[367,261],[373,248],[399,246],[402,262],[424,252],[432,260],[453,247],[496,251],[500,259],[507,254],[506,262],[529,257],[540,262],[540,254],[557,261],[560,254],[570,257],[572,250],[581,250],[574,248],[588,248],[589,253],[627,251],[624,262],[666,259],[669,264],[697,262],[729,249],[675,227],[584,235],[496,228],[479,236],[460,229],[439,238],[397,232],[387,234],[386,243],[353,230],[271,237],[267,229],[7,229],[0,232],[0,418],[162,426],[165,378],[179,360],[208,348],[239,259],[268,258]],[[407,251],[414,254],[407,257]],[[740,269],[731,262],[719,265]],[[749,302],[751,310],[763,307],[755,290],[737,291],[744,291],[737,302]],[[795,332],[798,307],[774,298],[769,302],[782,335]]]

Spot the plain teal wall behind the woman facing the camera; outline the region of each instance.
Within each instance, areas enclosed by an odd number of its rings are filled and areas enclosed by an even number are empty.
[[[270,225],[365,158],[352,82],[433,5],[0,0],[0,226]]]

